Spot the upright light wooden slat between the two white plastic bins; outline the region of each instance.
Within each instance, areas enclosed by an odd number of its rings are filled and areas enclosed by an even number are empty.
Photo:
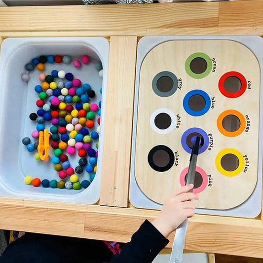
[[[128,206],[137,37],[111,37],[100,204]]]

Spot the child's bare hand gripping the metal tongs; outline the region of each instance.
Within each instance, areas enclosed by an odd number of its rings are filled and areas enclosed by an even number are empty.
[[[158,217],[152,222],[166,238],[188,217],[194,215],[193,199],[199,199],[195,193],[188,192],[193,185],[180,188],[175,194],[169,196]]]

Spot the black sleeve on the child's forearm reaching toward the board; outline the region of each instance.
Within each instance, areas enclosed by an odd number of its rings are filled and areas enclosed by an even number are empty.
[[[111,263],[151,263],[168,243],[169,240],[146,220]]]

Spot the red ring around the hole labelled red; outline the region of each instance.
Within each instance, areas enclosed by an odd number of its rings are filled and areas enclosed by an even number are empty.
[[[231,92],[228,92],[225,90],[225,87],[224,87],[224,82],[225,82],[225,79],[229,76],[235,76],[237,77],[240,81],[241,81],[241,88],[239,91],[237,92],[234,92],[234,93],[231,93]],[[219,79],[219,82],[218,82],[218,87],[219,87],[219,90],[220,92],[227,98],[237,98],[239,96],[241,96],[245,91],[246,91],[246,88],[247,88],[247,80],[246,78],[239,72],[236,72],[236,71],[229,71],[227,73],[225,73],[220,79]]]

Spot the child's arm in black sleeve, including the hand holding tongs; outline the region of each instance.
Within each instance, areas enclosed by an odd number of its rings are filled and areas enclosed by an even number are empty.
[[[131,241],[115,255],[111,263],[150,263],[158,253],[169,243],[167,237],[185,219],[194,215],[194,205],[191,200],[198,195],[188,192],[193,185],[179,189],[167,198],[158,217],[150,223],[146,220],[135,232]]]

